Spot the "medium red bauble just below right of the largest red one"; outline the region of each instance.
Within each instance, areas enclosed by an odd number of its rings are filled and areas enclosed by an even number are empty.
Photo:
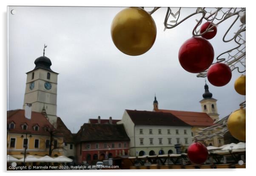
[[[225,63],[214,63],[207,72],[207,78],[212,85],[223,86],[231,80],[232,72]]]

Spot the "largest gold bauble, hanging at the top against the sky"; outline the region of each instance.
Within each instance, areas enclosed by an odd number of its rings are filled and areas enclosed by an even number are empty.
[[[111,36],[116,47],[123,53],[142,55],[155,42],[156,24],[142,8],[125,8],[114,17]]]

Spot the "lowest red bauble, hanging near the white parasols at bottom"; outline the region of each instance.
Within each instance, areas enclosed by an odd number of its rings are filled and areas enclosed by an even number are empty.
[[[191,162],[202,164],[208,158],[208,150],[204,144],[195,142],[188,147],[188,158]]]

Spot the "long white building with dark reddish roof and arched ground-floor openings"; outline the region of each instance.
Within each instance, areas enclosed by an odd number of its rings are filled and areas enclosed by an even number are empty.
[[[191,126],[171,113],[125,110],[117,124],[131,139],[131,156],[176,153],[176,144],[184,152],[192,143]]]

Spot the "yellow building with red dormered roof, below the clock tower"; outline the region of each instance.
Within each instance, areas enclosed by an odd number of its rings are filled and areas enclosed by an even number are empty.
[[[17,158],[23,158],[25,151],[26,156],[63,155],[63,134],[42,113],[26,111],[7,111],[7,154]]]

